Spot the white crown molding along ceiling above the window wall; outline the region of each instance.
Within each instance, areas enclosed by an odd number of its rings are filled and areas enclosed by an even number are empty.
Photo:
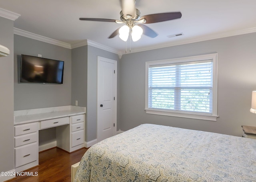
[[[242,30],[240,29],[240,30],[234,30],[234,31],[226,31],[226,32],[217,33],[217,34],[192,37],[190,39],[182,39],[182,40],[178,40],[178,41],[171,41],[171,42],[164,43],[164,44],[158,44],[158,45],[154,45],[154,46],[133,49],[131,53],[149,51],[149,50],[160,49],[160,48],[164,48],[164,47],[171,47],[171,46],[176,46],[176,45],[195,43],[195,42],[201,42],[201,41],[207,41],[207,40],[212,40],[212,39],[219,39],[219,38],[224,38],[224,37],[231,37],[231,36],[235,36],[235,35],[242,35],[242,34],[255,33],[255,32],[256,32],[256,27],[242,29]],[[123,51],[122,54],[126,54],[126,53]],[[127,53],[127,54],[130,54],[130,53]]]

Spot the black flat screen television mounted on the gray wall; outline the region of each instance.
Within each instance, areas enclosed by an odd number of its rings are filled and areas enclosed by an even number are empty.
[[[64,61],[21,55],[21,83],[62,84]]]

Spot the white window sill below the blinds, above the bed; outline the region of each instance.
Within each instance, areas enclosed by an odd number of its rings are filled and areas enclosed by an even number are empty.
[[[208,115],[208,114],[195,114],[195,113],[186,113],[178,111],[165,111],[165,110],[156,110],[156,109],[145,109],[147,114],[157,114],[157,115],[168,115],[174,117],[185,117],[190,119],[203,119],[208,121],[217,121],[217,115]]]

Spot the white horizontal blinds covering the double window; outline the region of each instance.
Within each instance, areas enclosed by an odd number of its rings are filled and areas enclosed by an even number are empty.
[[[212,114],[213,61],[148,67],[148,108]]]

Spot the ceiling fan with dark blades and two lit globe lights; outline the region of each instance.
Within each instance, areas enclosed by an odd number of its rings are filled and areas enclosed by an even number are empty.
[[[136,9],[136,0],[120,0],[122,11],[120,12],[120,20],[105,18],[79,18],[79,20],[96,21],[96,22],[114,22],[125,23],[122,27],[116,29],[108,38],[111,39],[118,35],[123,41],[127,41],[131,35],[133,41],[140,39],[142,33],[148,37],[156,37],[158,34],[145,23],[157,23],[168,20],[181,18],[180,12],[158,13],[140,16],[140,11]],[[137,24],[142,23],[142,24]]]

